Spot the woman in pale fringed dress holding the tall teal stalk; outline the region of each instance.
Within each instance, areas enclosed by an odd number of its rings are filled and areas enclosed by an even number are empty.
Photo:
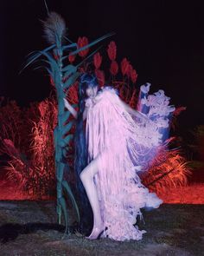
[[[142,217],[140,208],[157,208],[163,200],[149,193],[137,172],[148,169],[162,144],[159,128],[166,116],[162,122],[151,121],[120,100],[116,89],[106,86],[99,90],[93,75],[82,75],[80,82],[79,113],[86,120],[88,153],[80,180],[93,213],[92,233],[86,238],[102,235],[112,240],[141,240],[146,231],[136,226],[137,215]],[[64,102],[78,118],[75,109],[66,99]]]

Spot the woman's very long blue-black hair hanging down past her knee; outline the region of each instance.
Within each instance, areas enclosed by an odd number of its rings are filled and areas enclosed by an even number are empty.
[[[80,76],[79,83],[79,111],[76,121],[76,130],[74,135],[74,144],[75,144],[75,158],[74,158],[74,169],[77,175],[76,187],[80,193],[80,200],[82,207],[85,209],[88,204],[86,198],[86,192],[83,187],[82,182],[80,181],[80,173],[87,166],[87,145],[86,145],[86,136],[83,126],[83,112],[85,110],[85,100],[86,100],[86,89],[88,87],[98,86],[98,81],[95,75],[83,74]]]

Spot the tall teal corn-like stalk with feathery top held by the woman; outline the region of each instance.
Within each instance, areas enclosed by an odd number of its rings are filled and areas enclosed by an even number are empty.
[[[67,119],[70,116],[69,111],[65,111],[63,98],[66,97],[67,89],[76,81],[80,76],[80,62],[78,65],[73,65],[68,60],[71,56],[74,56],[81,51],[89,49],[92,45],[99,43],[104,40],[106,37],[111,36],[108,34],[105,36],[99,37],[97,40],[92,43],[87,43],[85,46],[79,47],[78,43],[72,43],[66,36],[66,24],[63,18],[55,13],[50,12],[48,18],[43,22],[45,37],[50,44],[47,49],[37,50],[29,56],[28,62],[25,65],[24,69],[28,67],[31,63],[35,62],[39,58],[44,62],[42,66],[38,68],[44,68],[48,71],[50,79],[53,82],[58,102],[58,121],[57,125],[54,128],[54,151],[55,151],[55,168],[56,168],[56,180],[57,180],[57,214],[58,214],[58,223],[61,224],[62,213],[64,215],[64,220],[66,224],[65,233],[68,229],[68,214],[67,214],[67,202],[65,200],[66,195],[72,201],[73,207],[76,210],[78,220],[80,222],[80,212],[79,207],[74,199],[73,192],[71,187],[64,179],[64,169],[67,165],[67,162],[64,161],[67,156],[67,145],[73,139],[73,135],[69,134],[69,131],[73,127],[74,121],[67,122]],[[86,57],[89,58],[95,52]],[[84,59],[83,62],[86,60]],[[68,63],[67,63],[68,62]],[[73,107],[76,107],[76,104],[73,104]]]

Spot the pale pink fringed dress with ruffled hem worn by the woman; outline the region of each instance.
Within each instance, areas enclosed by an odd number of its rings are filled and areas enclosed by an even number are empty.
[[[146,231],[136,225],[137,215],[143,217],[140,209],[157,208],[163,200],[143,186],[137,171],[148,167],[162,144],[160,128],[168,125],[166,116],[172,109],[167,105],[160,121],[135,121],[110,86],[102,88],[94,100],[87,98],[86,108],[88,162],[101,154],[94,183],[107,227],[102,237],[141,240]]]

